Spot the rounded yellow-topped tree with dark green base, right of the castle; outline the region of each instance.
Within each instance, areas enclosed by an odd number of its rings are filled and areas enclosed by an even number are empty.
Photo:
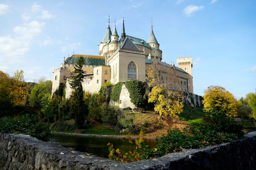
[[[237,101],[221,86],[210,86],[204,91],[204,124],[217,132],[243,136],[243,126],[234,120],[237,115]]]

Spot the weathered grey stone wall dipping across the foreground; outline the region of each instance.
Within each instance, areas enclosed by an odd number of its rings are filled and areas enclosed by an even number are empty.
[[[256,170],[256,132],[218,146],[122,163],[28,135],[0,134],[0,170]]]

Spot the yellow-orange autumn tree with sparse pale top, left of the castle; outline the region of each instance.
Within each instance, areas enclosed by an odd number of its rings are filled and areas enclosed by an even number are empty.
[[[16,71],[12,81],[12,100],[13,104],[26,104],[29,86],[24,82],[23,71]]]

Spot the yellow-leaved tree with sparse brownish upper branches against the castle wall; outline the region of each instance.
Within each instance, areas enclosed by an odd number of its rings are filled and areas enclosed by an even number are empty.
[[[160,117],[163,113],[178,117],[183,111],[183,95],[175,69],[153,60],[146,68],[146,80],[148,86],[153,87],[148,94],[148,102],[155,104],[154,109]]]

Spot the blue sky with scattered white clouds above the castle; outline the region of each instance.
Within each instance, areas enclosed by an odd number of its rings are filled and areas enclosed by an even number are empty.
[[[256,89],[255,0],[0,0],[0,71],[53,79],[63,57],[99,55],[108,27],[148,40],[162,62],[192,56],[193,90],[222,86],[236,99]]]

